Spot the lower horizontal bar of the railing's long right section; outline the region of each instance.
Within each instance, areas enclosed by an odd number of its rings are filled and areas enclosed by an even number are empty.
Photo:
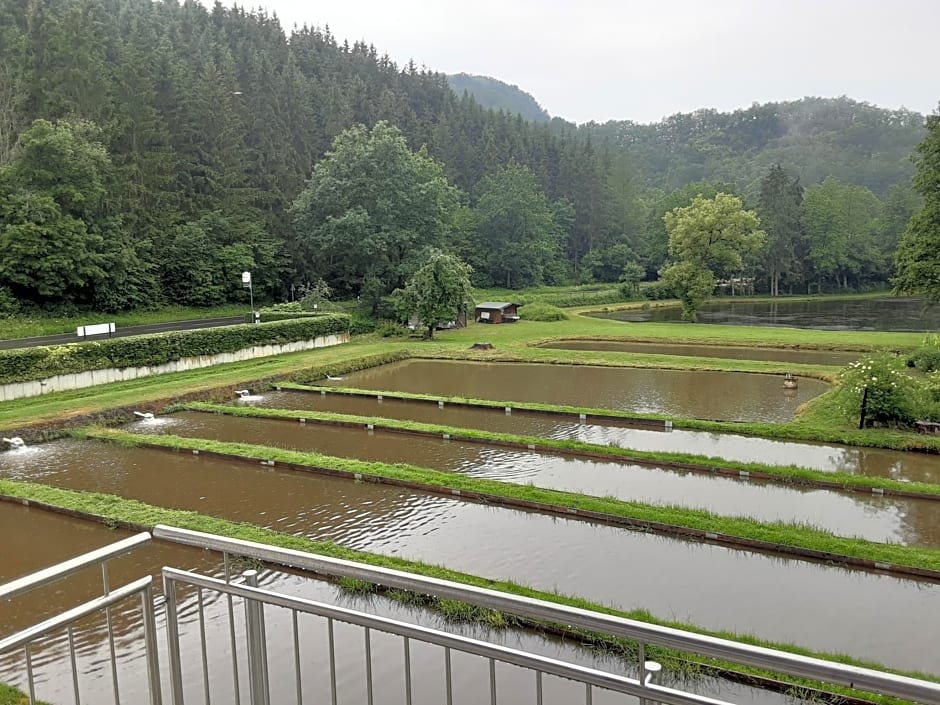
[[[636,679],[627,678],[614,673],[607,673],[605,671],[598,671],[593,668],[588,668],[587,666],[558,661],[557,659],[547,656],[539,656],[537,654],[519,651],[518,649],[512,649],[498,644],[491,644],[458,634],[451,634],[429,627],[401,622],[388,617],[380,617],[302,597],[284,595],[279,592],[265,590],[264,588],[250,587],[246,584],[227,583],[218,578],[210,578],[208,576],[199,575],[198,573],[191,573],[176,568],[164,568],[163,578],[164,580],[170,580],[184,585],[201,587],[207,590],[217,590],[220,593],[235,595],[246,599],[254,599],[285,609],[297,610],[298,612],[314,614],[347,624],[376,629],[389,634],[396,634],[398,636],[455,649],[484,658],[492,658],[503,663],[542,671],[543,673],[568,678],[580,683],[590,683],[599,688],[624,693],[626,695],[636,697],[649,695],[649,686],[644,685]],[[694,693],[685,693],[683,691],[669,689],[661,693],[657,692],[657,699],[659,702],[669,703],[670,705],[729,705],[722,700],[715,700]]]

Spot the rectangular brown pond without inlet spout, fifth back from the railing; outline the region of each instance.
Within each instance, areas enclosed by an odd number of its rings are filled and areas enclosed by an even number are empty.
[[[778,375],[742,372],[405,360],[354,372],[328,384],[767,422],[788,421],[800,404],[828,389],[819,380],[801,379],[796,394],[786,396],[781,380]]]

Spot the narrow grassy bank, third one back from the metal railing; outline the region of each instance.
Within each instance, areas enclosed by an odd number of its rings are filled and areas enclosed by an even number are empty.
[[[441,438],[447,436],[455,441],[469,441],[473,443],[488,443],[505,445],[513,448],[528,449],[540,452],[584,455],[591,458],[608,458],[620,462],[631,462],[641,465],[660,465],[679,470],[692,472],[714,473],[721,471],[731,477],[741,477],[740,473],[748,473],[754,479],[770,480],[777,484],[803,485],[823,487],[827,489],[841,489],[871,493],[879,489],[885,495],[904,497],[922,497],[924,499],[940,500],[940,485],[926,482],[902,482],[891,478],[869,477],[866,475],[851,475],[842,472],[824,472],[811,470],[796,465],[777,466],[763,465],[761,463],[745,463],[722,458],[694,455],[692,453],[642,451],[622,446],[599,445],[578,440],[561,440],[556,438],[543,438],[540,436],[520,436],[510,433],[497,433],[494,431],[481,431],[469,428],[456,428],[441,426],[419,421],[402,421],[387,419],[380,416],[357,416],[339,414],[328,411],[297,411],[293,409],[269,409],[254,406],[234,406],[231,404],[210,404],[205,402],[189,402],[180,404],[178,409],[201,411],[228,416],[240,416],[259,419],[281,419],[298,421],[304,419],[308,422],[323,422],[344,426],[366,427],[372,426],[375,430],[388,430],[395,432],[415,433],[423,436]]]

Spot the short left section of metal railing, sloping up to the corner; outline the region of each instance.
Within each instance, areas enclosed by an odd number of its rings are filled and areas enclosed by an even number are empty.
[[[84,602],[72,609],[45,619],[38,624],[21,629],[14,634],[0,639],[0,655],[23,649],[26,664],[26,689],[29,702],[36,701],[35,674],[32,665],[31,647],[49,634],[65,630],[68,636],[69,666],[72,675],[72,690],[75,704],[82,702],[79,685],[78,664],[76,662],[75,636],[73,625],[90,615],[104,612],[107,621],[108,646],[111,665],[111,687],[114,702],[120,705],[121,694],[118,682],[117,650],[114,642],[114,622],[111,608],[134,595],[140,596],[141,622],[144,632],[145,660],[147,664],[147,682],[151,705],[161,705],[162,694],[160,690],[160,661],[157,653],[156,621],[154,619],[153,578],[146,576],[122,587],[112,589],[108,577],[108,561],[122,554],[133,551],[138,546],[148,543],[150,534],[140,533],[129,538],[117,541],[94,551],[49,568],[36,571],[22,578],[12,580],[0,585],[0,601],[11,600],[31,590],[62,580],[80,570],[98,565],[101,567],[101,582],[103,594],[101,597]]]

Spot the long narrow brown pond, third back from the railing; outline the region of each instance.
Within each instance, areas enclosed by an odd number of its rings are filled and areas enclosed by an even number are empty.
[[[459,472],[474,477],[706,509],[761,521],[793,521],[870,541],[940,547],[940,501],[781,487],[616,461],[563,457],[439,437],[368,432],[312,422],[181,412],[131,431],[316,451],[326,455]]]

